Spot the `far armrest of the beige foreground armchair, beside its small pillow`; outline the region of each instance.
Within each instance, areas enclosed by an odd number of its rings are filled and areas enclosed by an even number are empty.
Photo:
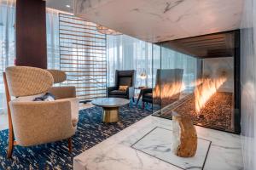
[[[53,94],[56,99],[66,99],[76,97],[76,88],[73,86],[52,87],[49,93]]]

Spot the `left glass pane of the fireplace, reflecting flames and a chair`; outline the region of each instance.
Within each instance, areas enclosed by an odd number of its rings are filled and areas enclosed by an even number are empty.
[[[165,108],[193,93],[197,77],[197,60],[164,46],[158,46],[160,55],[154,55],[155,87],[153,89],[154,111],[164,114]],[[158,108],[158,109],[156,109]]]

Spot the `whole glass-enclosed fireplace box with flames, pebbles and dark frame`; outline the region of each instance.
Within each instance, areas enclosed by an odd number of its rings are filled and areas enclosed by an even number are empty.
[[[159,45],[154,116],[172,119],[175,112],[195,125],[240,133],[239,31]]]

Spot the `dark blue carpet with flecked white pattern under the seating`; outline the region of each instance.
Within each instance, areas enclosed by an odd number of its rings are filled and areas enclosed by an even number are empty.
[[[92,107],[79,112],[77,133],[73,136],[73,152],[69,153],[67,141],[33,147],[15,146],[12,159],[6,158],[8,130],[0,131],[0,169],[73,169],[73,157],[102,142],[125,127],[148,116],[152,111],[140,106],[125,105],[120,108],[120,121],[103,123],[102,109]]]

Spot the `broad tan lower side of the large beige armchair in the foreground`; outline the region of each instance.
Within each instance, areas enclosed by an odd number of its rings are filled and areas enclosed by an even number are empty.
[[[15,138],[21,146],[45,144],[70,138],[76,131],[72,123],[71,102],[10,101]],[[29,135],[28,135],[29,134]]]

